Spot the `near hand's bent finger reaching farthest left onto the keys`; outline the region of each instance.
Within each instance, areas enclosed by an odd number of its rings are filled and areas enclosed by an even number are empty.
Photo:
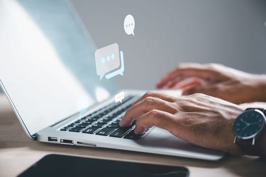
[[[153,109],[166,111],[173,114],[176,112],[176,108],[174,107],[173,103],[166,102],[159,98],[147,97],[129,108],[123,119],[120,121],[120,126],[131,125],[135,118]]]

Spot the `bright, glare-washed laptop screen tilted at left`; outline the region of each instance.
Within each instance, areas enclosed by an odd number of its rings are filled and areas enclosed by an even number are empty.
[[[0,0],[0,79],[30,135],[117,93],[69,2]]]

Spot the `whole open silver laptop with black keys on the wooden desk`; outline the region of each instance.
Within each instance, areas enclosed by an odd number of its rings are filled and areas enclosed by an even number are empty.
[[[0,38],[1,87],[30,139],[88,150],[223,157],[223,152],[192,145],[158,127],[142,135],[134,134],[134,123],[119,127],[146,91],[119,90],[113,79],[99,79],[96,45],[68,1],[0,1]],[[121,91],[124,99],[116,103]]]

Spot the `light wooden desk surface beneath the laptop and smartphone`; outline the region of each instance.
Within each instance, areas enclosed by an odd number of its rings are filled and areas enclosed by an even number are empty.
[[[43,156],[53,153],[186,166],[190,176],[266,176],[266,161],[256,157],[226,155],[213,162],[32,141],[26,136],[6,97],[0,94],[0,176],[16,176]]]

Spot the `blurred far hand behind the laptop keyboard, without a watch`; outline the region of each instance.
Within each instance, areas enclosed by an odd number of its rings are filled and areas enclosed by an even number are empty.
[[[233,103],[266,101],[265,75],[250,74],[220,64],[180,64],[167,73],[157,87],[182,89],[183,95],[203,93]]]

